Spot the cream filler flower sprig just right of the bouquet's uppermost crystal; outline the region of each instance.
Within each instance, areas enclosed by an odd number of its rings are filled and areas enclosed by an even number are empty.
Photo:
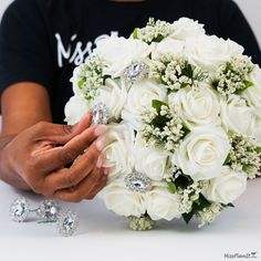
[[[161,55],[152,60],[148,76],[167,85],[170,91],[178,91],[186,86],[197,86],[209,75],[202,69],[189,64],[185,59]]]

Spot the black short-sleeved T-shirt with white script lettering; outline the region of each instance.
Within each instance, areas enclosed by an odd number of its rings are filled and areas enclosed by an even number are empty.
[[[188,17],[206,24],[208,34],[230,38],[261,65],[257,40],[230,0],[15,0],[0,27],[0,92],[29,81],[49,90],[53,122],[62,123],[73,95],[70,77],[95,41],[106,34],[128,36],[149,17],[168,22]]]

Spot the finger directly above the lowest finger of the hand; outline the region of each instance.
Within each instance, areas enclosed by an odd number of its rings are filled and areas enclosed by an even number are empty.
[[[90,148],[81,155],[70,168],[63,168],[45,177],[45,187],[54,190],[77,186],[95,168],[102,167],[101,152],[93,143]]]

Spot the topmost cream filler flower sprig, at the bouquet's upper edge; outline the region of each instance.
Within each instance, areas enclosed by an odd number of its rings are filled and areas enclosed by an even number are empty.
[[[136,28],[133,32],[134,39],[140,39],[146,43],[160,42],[171,33],[171,24],[165,21],[149,18],[145,28]]]

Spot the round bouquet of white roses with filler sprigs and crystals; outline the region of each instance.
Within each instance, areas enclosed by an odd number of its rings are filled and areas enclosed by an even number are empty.
[[[197,21],[150,19],[129,39],[101,40],[72,82],[66,122],[93,109],[107,123],[100,195],[135,230],[210,223],[259,175],[261,69]]]

